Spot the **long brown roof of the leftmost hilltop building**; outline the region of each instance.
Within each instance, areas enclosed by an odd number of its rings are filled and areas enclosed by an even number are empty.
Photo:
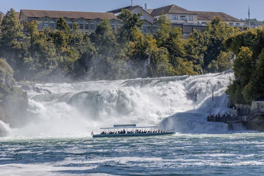
[[[58,19],[60,17],[66,17],[68,19],[116,19],[116,16],[113,13],[109,12],[73,12],[73,11],[53,11],[53,10],[25,10],[22,9],[21,12],[25,14],[27,17],[50,17]]]

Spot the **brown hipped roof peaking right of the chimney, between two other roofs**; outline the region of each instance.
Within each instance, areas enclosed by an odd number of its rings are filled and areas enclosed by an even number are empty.
[[[162,11],[164,11],[165,14],[196,14],[193,11],[188,11],[182,7],[172,4],[165,7],[153,9],[151,15],[153,17],[161,15]]]

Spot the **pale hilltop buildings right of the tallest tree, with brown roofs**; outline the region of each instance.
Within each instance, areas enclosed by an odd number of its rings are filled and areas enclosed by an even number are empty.
[[[243,27],[244,22],[227,15],[223,12],[202,12],[202,11],[189,11],[182,7],[179,7],[175,4],[159,7],[156,9],[148,9],[147,4],[145,4],[145,8],[136,6],[127,6],[124,8],[112,10],[109,12],[118,15],[122,9],[128,9],[132,13],[141,12],[142,19],[145,20],[145,23],[142,26],[143,34],[153,34],[155,35],[158,19],[163,13],[167,19],[171,22],[173,27],[180,27],[182,29],[183,37],[188,37],[190,33],[192,33],[195,29],[202,30],[207,22],[211,22],[215,17],[219,16],[221,20],[229,25],[235,27]],[[134,10],[137,9],[137,10]],[[154,20],[148,20],[149,16],[152,16]]]

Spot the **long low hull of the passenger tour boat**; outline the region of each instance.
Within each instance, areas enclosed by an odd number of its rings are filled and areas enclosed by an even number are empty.
[[[125,134],[94,134],[92,137],[149,137],[149,136],[168,136],[175,132],[159,132],[159,133],[125,133]]]

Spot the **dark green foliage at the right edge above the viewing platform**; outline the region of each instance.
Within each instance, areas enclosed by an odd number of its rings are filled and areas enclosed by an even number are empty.
[[[234,63],[236,81],[227,94],[234,103],[248,103],[264,94],[264,29],[250,29],[226,40],[228,50],[237,54]]]

